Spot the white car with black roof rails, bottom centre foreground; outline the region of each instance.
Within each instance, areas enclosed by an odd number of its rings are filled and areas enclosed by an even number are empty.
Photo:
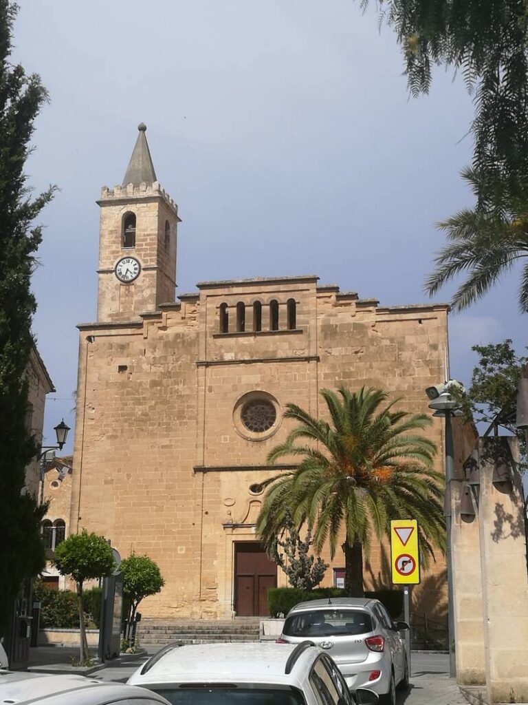
[[[313,642],[172,644],[129,678],[171,705],[353,705],[332,658]],[[359,691],[361,703],[377,695]]]

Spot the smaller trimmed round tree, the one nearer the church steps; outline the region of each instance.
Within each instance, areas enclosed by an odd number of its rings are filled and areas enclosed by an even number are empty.
[[[125,639],[130,642],[132,625],[136,617],[139,603],[149,595],[155,595],[165,584],[161,570],[149,556],[132,556],[121,561],[122,590],[129,604],[127,616],[127,632]],[[132,646],[133,644],[131,644]]]

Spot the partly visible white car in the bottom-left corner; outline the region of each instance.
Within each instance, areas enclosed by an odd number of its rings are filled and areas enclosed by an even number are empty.
[[[168,705],[156,693],[84,675],[48,675],[0,670],[0,704]]]

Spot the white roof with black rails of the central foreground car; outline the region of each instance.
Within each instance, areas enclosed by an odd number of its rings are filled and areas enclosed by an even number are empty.
[[[294,651],[296,654],[290,659]],[[153,656],[128,682],[146,687],[153,683],[196,682],[302,687],[303,674],[309,672],[319,653],[313,642],[175,644],[165,654]],[[287,664],[291,666],[289,673]]]

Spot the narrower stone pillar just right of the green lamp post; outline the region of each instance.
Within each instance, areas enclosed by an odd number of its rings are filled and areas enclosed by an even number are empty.
[[[456,680],[459,685],[484,685],[486,668],[479,522],[477,517],[472,520],[470,517],[460,517],[462,493],[463,483],[451,482]]]

